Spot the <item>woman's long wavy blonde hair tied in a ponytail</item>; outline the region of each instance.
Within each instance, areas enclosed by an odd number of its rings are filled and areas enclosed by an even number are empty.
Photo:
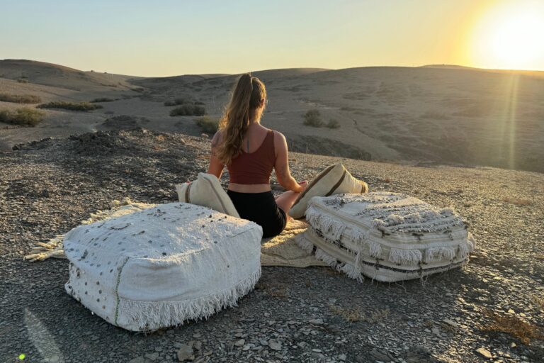
[[[259,106],[264,100],[266,89],[263,82],[249,73],[242,74],[219,121],[222,143],[217,147],[217,158],[220,162],[230,164],[242,151],[242,140],[249,124],[261,119],[264,107]]]

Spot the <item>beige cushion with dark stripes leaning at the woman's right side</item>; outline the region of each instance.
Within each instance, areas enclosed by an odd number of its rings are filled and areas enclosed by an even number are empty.
[[[289,216],[302,218],[310,199],[314,196],[331,196],[341,193],[366,193],[368,185],[349,174],[343,164],[336,164],[324,169],[307,186],[289,211]]]

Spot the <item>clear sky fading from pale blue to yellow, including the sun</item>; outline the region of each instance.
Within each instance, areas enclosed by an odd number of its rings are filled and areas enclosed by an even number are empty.
[[[0,59],[145,77],[429,64],[544,70],[543,4],[0,0]]]

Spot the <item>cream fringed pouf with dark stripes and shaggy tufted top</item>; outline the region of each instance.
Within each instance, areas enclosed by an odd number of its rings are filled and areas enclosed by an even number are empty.
[[[297,243],[361,281],[416,279],[459,267],[474,250],[466,223],[450,208],[378,191],[315,197],[310,228]]]

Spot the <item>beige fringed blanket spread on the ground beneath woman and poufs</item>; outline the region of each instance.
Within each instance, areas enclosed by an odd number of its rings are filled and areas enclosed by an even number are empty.
[[[125,198],[123,201],[113,201],[111,209],[91,213],[91,217],[82,220],[81,224],[91,224],[98,220],[125,216],[128,213],[151,208],[154,204],[132,202]],[[316,259],[310,252],[300,249],[295,242],[295,236],[306,230],[307,224],[300,220],[290,220],[285,230],[274,238],[267,238],[261,242],[261,264],[262,266],[283,266],[283,267],[310,267],[326,266],[322,261]],[[57,235],[49,242],[38,242],[30,254],[24,258],[30,262],[43,261],[50,257],[66,258],[62,250],[64,235]]]

